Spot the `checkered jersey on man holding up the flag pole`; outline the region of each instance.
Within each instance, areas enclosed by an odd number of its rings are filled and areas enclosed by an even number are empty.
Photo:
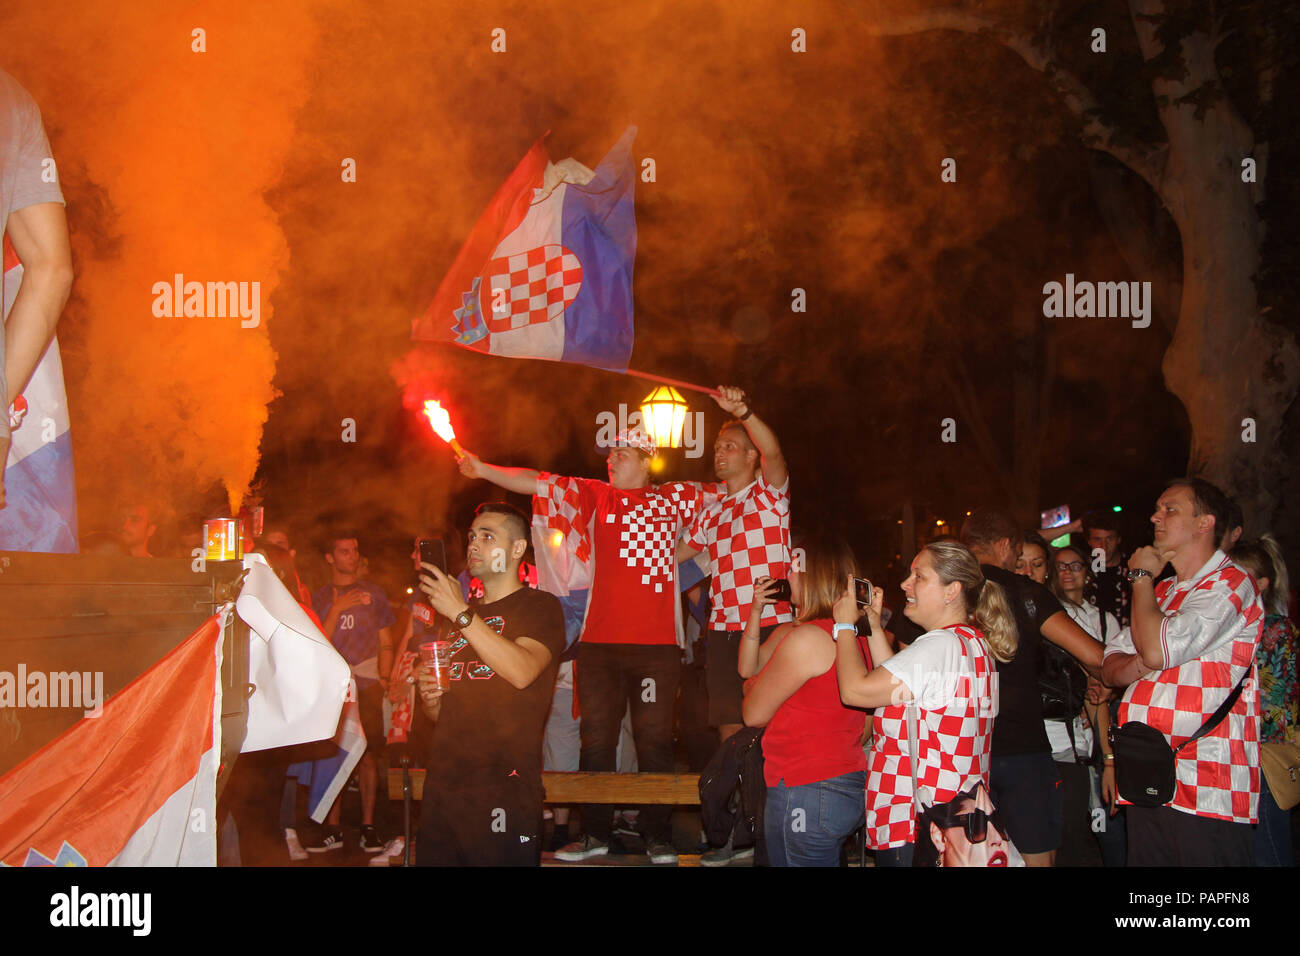
[[[686,544],[708,551],[708,627],[738,631],[759,578],[785,578],[790,566],[790,480],[775,488],[759,472],[745,488],[701,510]],[[784,610],[779,610],[784,609]],[[762,626],[793,620],[790,606],[768,605]]]

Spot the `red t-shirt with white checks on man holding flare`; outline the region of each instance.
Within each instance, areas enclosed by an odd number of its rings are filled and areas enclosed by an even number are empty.
[[[618,489],[573,483],[582,514],[593,515],[592,597],[582,627],[588,644],[677,643],[677,532],[694,518],[701,486],[672,481]]]

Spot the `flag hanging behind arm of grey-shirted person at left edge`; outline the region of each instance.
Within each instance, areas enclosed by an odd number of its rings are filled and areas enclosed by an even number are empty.
[[[22,281],[22,263],[4,238],[4,317],[9,317]],[[13,382],[10,382],[10,388]],[[68,395],[58,342],[51,341],[22,397],[10,401],[12,428],[0,509],[0,551],[77,553],[77,481],[68,431]],[[26,412],[21,410],[26,407]]]

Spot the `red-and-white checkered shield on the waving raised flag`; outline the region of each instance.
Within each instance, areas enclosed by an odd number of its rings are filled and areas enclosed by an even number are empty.
[[[577,256],[558,243],[493,259],[485,272],[480,307],[491,333],[550,321],[582,286]],[[493,308],[499,289],[506,290],[508,311]]]

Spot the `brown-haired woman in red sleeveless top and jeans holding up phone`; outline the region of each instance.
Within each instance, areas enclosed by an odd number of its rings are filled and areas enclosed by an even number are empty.
[[[741,640],[741,676],[759,669],[745,688],[744,717],[763,732],[767,810],[763,832],[772,866],[837,866],[845,838],[862,825],[867,760],[866,714],[840,702],[835,676],[831,609],[854,575],[842,541],[807,548],[807,570],[790,574],[793,624],[783,624],[759,648],[758,628]],[[754,587],[751,620],[771,601],[771,581]],[[852,596],[852,591],[850,591]],[[853,600],[849,600],[850,605]],[[857,617],[857,615],[854,615]],[[858,646],[853,627],[838,637]],[[862,650],[855,650],[862,658]]]

